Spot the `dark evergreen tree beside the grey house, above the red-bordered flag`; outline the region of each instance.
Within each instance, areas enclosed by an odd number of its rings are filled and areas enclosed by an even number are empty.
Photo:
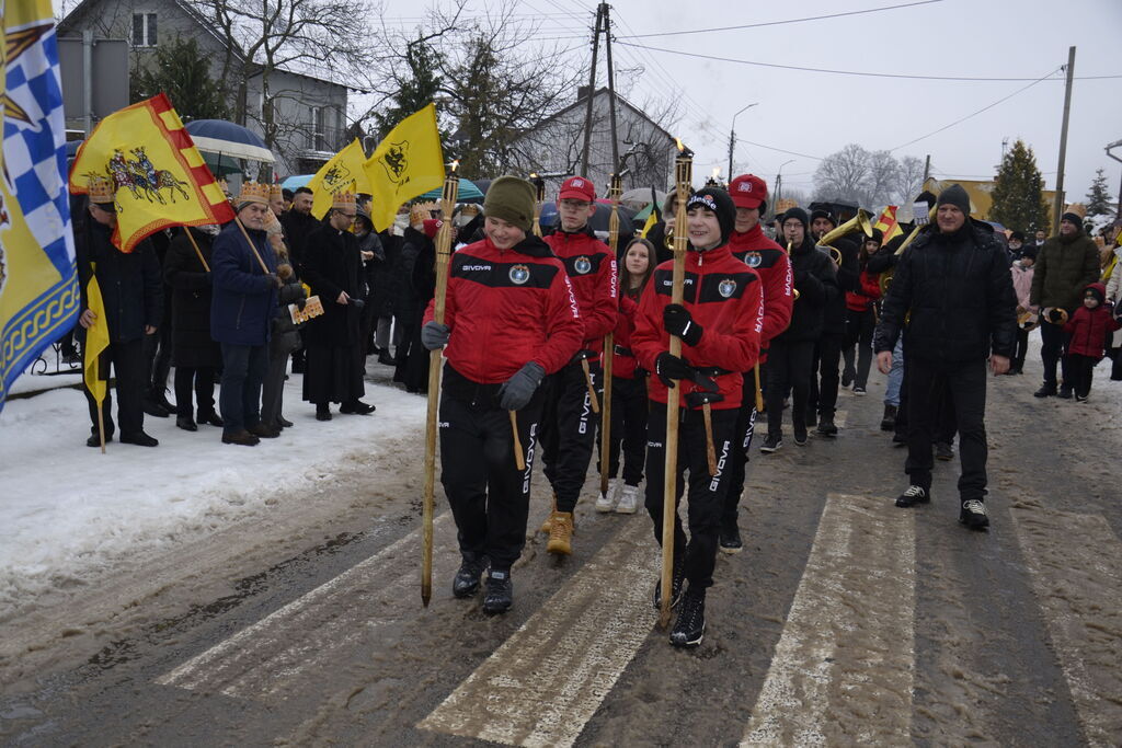
[[[172,100],[180,118],[191,120],[228,119],[226,96],[211,76],[210,61],[192,37],[176,37],[159,43],[148,65],[136,65],[129,75],[132,103],[163,91]]]

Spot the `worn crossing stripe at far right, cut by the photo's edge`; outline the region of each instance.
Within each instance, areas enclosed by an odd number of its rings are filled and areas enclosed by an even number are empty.
[[[1087,742],[1116,746],[1122,736],[1122,543],[1102,515],[1051,508],[1010,514]]]

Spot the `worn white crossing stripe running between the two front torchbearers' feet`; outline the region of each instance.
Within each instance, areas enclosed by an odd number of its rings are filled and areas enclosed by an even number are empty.
[[[571,746],[654,627],[659,547],[645,517],[600,548],[417,727]],[[518,575],[514,575],[517,604]]]

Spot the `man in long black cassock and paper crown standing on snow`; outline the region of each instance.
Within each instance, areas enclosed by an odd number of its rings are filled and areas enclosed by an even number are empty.
[[[340,413],[365,416],[375,409],[359,399],[366,393],[361,327],[366,288],[358,239],[348,231],[356,215],[355,195],[337,194],[325,223],[304,244],[301,277],[323,304],[323,314],[304,329],[304,399],[315,403],[319,421],[331,421],[331,403],[342,404]]]

